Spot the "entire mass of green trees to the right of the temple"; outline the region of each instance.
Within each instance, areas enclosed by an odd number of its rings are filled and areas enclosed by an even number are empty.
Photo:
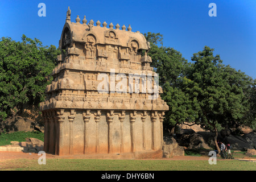
[[[159,74],[162,98],[170,110],[164,122],[171,127],[184,122],[200,124],[216,133],[247,125],[255,129],[255,80],[222,64],[220,55],[207,46],[193,54],[191,63],[174,48],[163,47],[163,36],[144,34],[150,42],[148,55]],[[161,44],[159,47],[157,44]]]

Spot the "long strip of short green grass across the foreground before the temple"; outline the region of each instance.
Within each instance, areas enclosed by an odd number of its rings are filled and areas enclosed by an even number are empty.
[[[208,160],[102,160],[102,159],[46,159],[8,160],[0,162],[0,170],[46,171],[255,171],[255,162],[218,160],[210,165]]]

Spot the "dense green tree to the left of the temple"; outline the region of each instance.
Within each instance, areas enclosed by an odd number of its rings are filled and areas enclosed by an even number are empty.
[[[26,103],[44,100],[46,85],[56,65],[59,49],[43,47],[38,39],[22,36],[22,42],[0,39],[0,119],[22,112]]]

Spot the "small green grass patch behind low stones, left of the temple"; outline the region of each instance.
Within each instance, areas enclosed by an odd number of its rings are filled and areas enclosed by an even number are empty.
[[[35,132],[24,132],[17,131],[14,133],[0,133],[0,146],[5,146],[11,144],[11,141],[25,142],[26,138],[37,138],[39,140],[44,140],[44,134],[35,131]]]

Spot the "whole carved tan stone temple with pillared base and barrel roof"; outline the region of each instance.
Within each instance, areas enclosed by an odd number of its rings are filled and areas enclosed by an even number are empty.
[[[40,104],[44,151],[56,155],[162,158],[168,105],[147,56],[150,44],[131,26],[71,22],[68,8],[53,81]]]

